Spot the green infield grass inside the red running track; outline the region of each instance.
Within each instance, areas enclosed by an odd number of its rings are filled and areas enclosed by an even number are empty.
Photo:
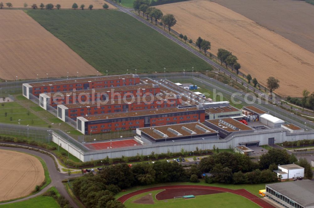
[[[198,195],[194,199],[185,200],[182,198],[168,199],[168,200],[156,200],[155,195],[162,190],[150,191],[143,194],[133,196],[128,199],[124,205],[127,208],[149,208],[149,207],[163,207],[163,208],[175,208],[175,207],[260,207],[254,202],[246,199],[243,196],[231,194],[231,193],[219,193],[219,194],[209,194],[209,195]],[[135,204],[134,200],[137,200],[149,193],[152,194],[154,199],[154,204]],[[211,206],[209,206],[211,205]]]

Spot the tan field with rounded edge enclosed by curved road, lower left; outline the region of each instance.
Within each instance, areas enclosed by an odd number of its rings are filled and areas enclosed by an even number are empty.
[[[25,153],[0,150],[0,201],[29,195],[45,179],[41,162]]]

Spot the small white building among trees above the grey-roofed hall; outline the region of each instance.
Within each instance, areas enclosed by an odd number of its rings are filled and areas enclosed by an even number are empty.
[[[274,170],[277,176],[282,176],[284,179],[292,179],[298,176],[304,177],[304,168],[296,164],[278,165],[278,170]]]

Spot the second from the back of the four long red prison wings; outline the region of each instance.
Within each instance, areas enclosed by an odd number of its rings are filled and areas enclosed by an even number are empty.
[[[145,93],[147,93],[147,96],[154,96],[157,93],[160,93],[160,88],[158,85],[154,84],[138,84],[81,91],[41,93],[39,95],[39,104],[42,108],[47,110],[47,105],[57,108],[57,105],[60,104],[84,102],[92,104],[97,101],[122,99],[124,97],[128,98],[132,96],[143,96]]]

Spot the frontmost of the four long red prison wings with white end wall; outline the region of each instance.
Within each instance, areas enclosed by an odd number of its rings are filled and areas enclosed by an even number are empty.
[[[77,130],[83,134],[95,134],[204,120],[202,106],[169,107],[77,117]]]

